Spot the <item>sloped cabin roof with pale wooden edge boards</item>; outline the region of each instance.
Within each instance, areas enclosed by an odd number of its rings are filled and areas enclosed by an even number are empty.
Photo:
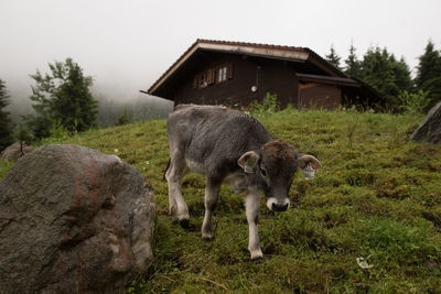
[[[344,78],[344,83],[353,84],[356,81],[347,78],[345,74],[335,66],[322,58],[319,54],[308,47],[281,46],[271,44],[257,44],[245,42],[215,41],[197,39],[148,89],[148,94],[154,95],[161,85],[165,84],[173,75],[184,66],[197,51],[224,52],[228,54],[240,54],[265,58],[282,59],[288,62],[305,63],[321,68],[330,77]],[[336,80],[334,80],[336,81]],[[343,83],[342,80],[340,80]],[[353,83],[352,83],[353,81]]]

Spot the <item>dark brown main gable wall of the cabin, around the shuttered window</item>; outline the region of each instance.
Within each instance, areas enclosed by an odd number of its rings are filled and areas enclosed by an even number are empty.
[[[280,106],[297,106],[298,83],[295,73],[281,61],[267,61],[236,54],[212,53],[187,72],[187,78],[175,87],[174,101],[178,104],[209,104],[246,107],[252,100],[262,101],[266,94],[276,94]],[[222,64],[233,64],[233,76],[225,83],[212,84],[204,88],[194,87],[194,77],[203,70]],[[257,91],[251,87],[257,86]]]

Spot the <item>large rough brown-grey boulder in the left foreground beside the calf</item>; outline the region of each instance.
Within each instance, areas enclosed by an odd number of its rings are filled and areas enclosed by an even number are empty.
[[[0,293],[121,293],[152,261],[151,186],[118,156],[44,145],[0,183]]]

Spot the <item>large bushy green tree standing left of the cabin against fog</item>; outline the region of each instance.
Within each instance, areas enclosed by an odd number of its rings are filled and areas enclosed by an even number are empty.
[[[96,126],[98,102],[90,92],[93,78],[83,75],[78,64],[66,58],[64,63],[49,64],[51,75],[36,70],[31,77],[32,101],[37,117],[29,119],[34,135],[47,135],[47,131],[60,124],[69,132],[85,131]]]

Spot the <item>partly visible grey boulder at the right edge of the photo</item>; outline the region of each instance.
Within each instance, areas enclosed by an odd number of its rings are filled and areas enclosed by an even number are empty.
[[[424,121],[410,135],[410,140],[433,144],[441,143],[441,101],[430,109]]]

